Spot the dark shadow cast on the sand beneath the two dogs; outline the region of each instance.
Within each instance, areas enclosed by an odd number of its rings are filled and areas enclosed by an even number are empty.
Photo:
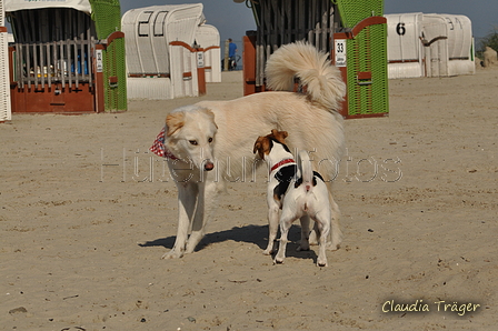
[[[298,259],[312,259],[317,262],[317,254],[315,249],[318,247],[312,245],[309,251],[297,251],[299,245],[299,240],[301,237],[301,229],[299,225],[292,224],[289,230],[289,243],[287,244],[286,257],[287,258],[298,258]],[[280,238],[280,233],[277,238]],[[176,235],[170,235],[167,238],[159,238],[151,241],[146,241],[139,243],[139,247],[163,247],[167,250],[173,248]],[[212,232],[206,234],[201,242],[197,245],[196,252],[202,251],[208,245],[213,245],[225,241],[236,241],[236,242],[247,242],[256,244],[262,251],[268,244],[268,225],[245,225],[245,227],[233,227],[230,230],[223,230],[219,232]],[[278,242],[277,247],[278,249]]]

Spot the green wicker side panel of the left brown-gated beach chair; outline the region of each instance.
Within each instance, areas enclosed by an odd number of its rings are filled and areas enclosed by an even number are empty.
[[[121,9],[119,0],[90,0],[97,37],[107,39],[112,32],[121,31]],[[114,39],[102,52],[104,108],[106,111],[127,109],[124,39]],[[109,78],[117,77],[118,83],[110,84]]]

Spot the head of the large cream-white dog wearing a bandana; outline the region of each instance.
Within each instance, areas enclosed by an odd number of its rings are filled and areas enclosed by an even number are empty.
[[[166,118],[165,144],[179,159],[191,160],[199,169],[215,168],[213,144],[218,127],[215,114],[206,108],[188,106]]]

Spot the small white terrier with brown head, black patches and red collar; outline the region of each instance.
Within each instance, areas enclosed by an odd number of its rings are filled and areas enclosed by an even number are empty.
[[[298,250],[309,250],[309,218],[319,230],[318,267],[327,267],[326,242],[330,232],[330,202],[323,178],[311,169],[308,152],[298,153],[298,162],[286,146],[287,131],[271,130],[271,134],[256,140],[253,153],[258,153],[270,168],[268,183],[269,241],[265,254],[273,252],[280,217],[280,245],[273,263],[283,263],[287,235],[295,220],[301,220],[301,242]]]

